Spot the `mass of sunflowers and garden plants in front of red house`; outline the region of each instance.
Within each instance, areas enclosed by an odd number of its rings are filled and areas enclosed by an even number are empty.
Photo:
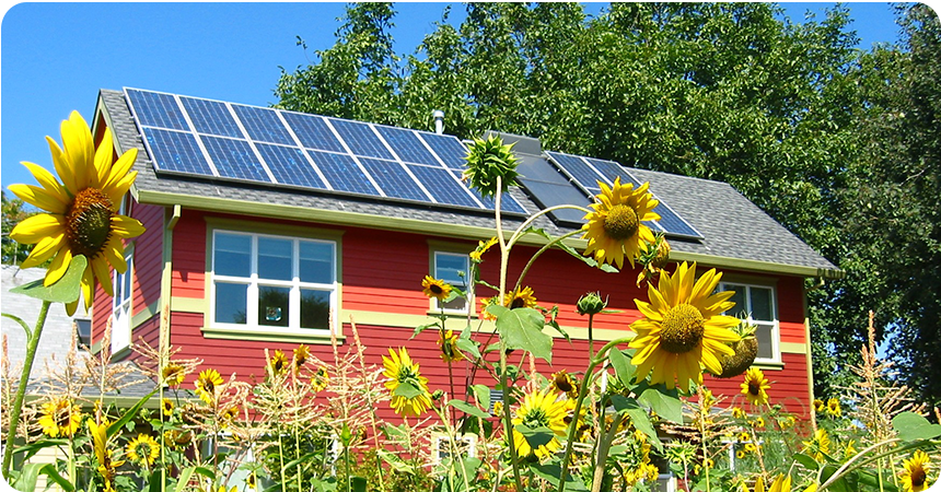
[[[350,319],[344,321],[352,340],[334,338],[333,359],[318,360],[304,344],[266,350],[264,378],[252,384],[177,358],[169,337],[160,347],[139,344],[155,389],[129,408],[103,403],[128,376],[111,363],[106,331],[94,356],[72,352],[47,367],[38,397],[26,403],[50,304],[73,313],[84,294],[89,306],[96,284],[111,295],[109,269],[126,268],[124,241],[143,233],[118,213],[137,175],[137,151],[113,161],[108,131],[95,148],[78,113],[61,132],[62,147],[47,138],[56,175],[24,163],[39,186],[10,187],[44,211],[11,234],[35,244],[23,267],[50,262],[44,280],[13,294],[40,298],[43,309],[32,328],[14,318],[27,335],[23,367],[10,367],[4,354],[3,491],[36,490],[40,479],[69,492],[643,491],[655,490],[666,472],[681,487],[705,491],[941,490],[934,468],[941,425],[890,383],[891,367],[876,358],[872,337],[855,368],[857,383],[843,394],[806,412],[771,405],[774,382],[750,367],[754,328],[725,314],[734,303],[732,292],[717,290],[721,272],[669,262],[666,239],[644,225],[659,218],[647,184],[600,184],[590,208],[566,206],[583,211],[585,223],[561,237],[533,225],[554,209],[504,231],[501,197],[518,161],[497,137],[475,140],[466,157],[465,179],[497,203],[496,235],[469,254],[467,292],[430,276],[416,279],[416,289],[420,283],[439,305],[473,300],[478,285],[497,292],[481,305],[493,330],[469,316],[460,332],[448,329],[443,309],[415,329],[438,331],[449,374],[455,364],[474,367],[468,388],[457,388],[453,375],[446,387],[430,387],[405,341],[387,348],[382,367],[368,364]],[[526,235],[543,237],[543,246],[510,278],[510,257]],[[583,253],[565,243],[577,235],[588,242]],[[604,296],[578,300],[589,338],[580,372],[535,371],[536,360],[551,362],[554,343],[569,339],[558,309],[541,306],[525,283],[550,248],[613,276],[624,276],[625,263],[639,269],[624,282],[647,291],[635,301],[641,318],[614,340],[593,337],[594,317],[607,309]],[[496,254],[500,263],[496,279],[480,274],[488,250],[488,260]],[[713,395],[704,373],[741,378],[741,394]],[[184,384],[190,374],[195,383]],[[491,401],[491,389],[499,401]],[[380,419],[385,406],[400,420]],[[35,459],[49,449],[57,452],[51,462]]]

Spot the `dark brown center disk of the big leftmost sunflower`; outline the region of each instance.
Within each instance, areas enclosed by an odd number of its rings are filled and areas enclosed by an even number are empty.
[[[92,259],[102,253],[112,232],[112,201],[95,188],[85,188],[66,215],[66,236],[73,255]]]

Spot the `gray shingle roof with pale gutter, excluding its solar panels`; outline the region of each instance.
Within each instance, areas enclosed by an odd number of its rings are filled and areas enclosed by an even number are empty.
[[[200,209],[256,216],[361,225],[418,232],[443,237],[485,239],[493,235],[493,216],[486,210],[465,210],[432,203],[408,203],[380,197],[363,197],[315,189],[183,176],[154,171],[140,127],[121,91],[102,90],[97,110],[112,129],[119,152],[139,149],[131,189],[141,203]],[[800,238],[778,224],[730,185],[666,173],[627,168],[693,225],[701,239],[671,237],[671,257],[750,271],[803,277],[838,278],[843,272]],[[530,213],[541,207],[528,190],[510,188],[511,196]],[[584,203],[574,203],[584,206]],[[523,216],[503,215],[504,230],[519,226]],[[553,235],[572,232],[565,222],[543,215],[534,225]],[[531,244],[541,238],[532,237]],[[584,239],[569,239],[584,247]]]

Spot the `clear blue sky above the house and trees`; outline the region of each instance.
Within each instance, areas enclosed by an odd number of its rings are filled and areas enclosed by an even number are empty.
[[[393,36],[410,54],[445,3],[397,3]],[[782,3],[793,22],[833,3]],[[848,3],[860,48],[895,42],[887,3]],[[590,4],[597,13],[603,4]],[[344,3],[9,3],[0,5],[0,167],[3,188],[34,184],[20,161],[51,168],[72,109],[91,119],[100,89],[124,86],[266,106],[279,67],[292,71],[334,45]],[[452,8],[452,21],[463,5]],[[297,46],[297,36],[307,52]]]

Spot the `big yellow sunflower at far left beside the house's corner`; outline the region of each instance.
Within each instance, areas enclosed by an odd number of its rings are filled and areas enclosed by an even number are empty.
[[[10,237],[22,244],[35,244],[22,268],[42,265],[53,258],[46,272],[45,285],[62,278],[72,258],[83,255],[89,260],[82,274],[85,309],[94,300],[95,283],[101,282],[108,295],[114,295],[108,265],[117,271],[127,271],[121,239],[143,234],[143,225],[136,219],[119,215],[124,195],[133,184],[137,172],[130,168],[137,159],[137,149],[130,149],[115,162],[111,130],[105,128],[97,149],[89,125],[72,112],[62,121],[62,150],[51,137],[46,137],[53,153],[53,163],[61,179],[45,168],[24,162],[42,186],[11,185],[10,191],[20,199],[45,210],[16,224]],[[66,305],[69,316],[74,314],[78,300]]]

